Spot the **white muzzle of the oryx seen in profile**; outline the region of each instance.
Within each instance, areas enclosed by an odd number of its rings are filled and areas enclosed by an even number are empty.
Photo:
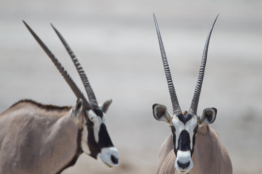
[[[112,156],[117,159],[117,163],[113,161]],[[101,152],[98,153],[97,160],[105,167],[114,167],[119,164],[118,161],[118,151],[115,147],[104,147]]]

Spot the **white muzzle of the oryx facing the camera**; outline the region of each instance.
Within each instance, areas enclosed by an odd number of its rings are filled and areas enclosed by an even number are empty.
[[[186,164],[186,163],[189,162],[189,165],[182,168],[182,167],[180,167],[178,162],[180,164]],[[179,174],[187,174],[193,167],[193,161],[191,159],[191,152],[189,150],[188,151],[178,150],[177,159],[175,161],[174,166],[178,170]]]

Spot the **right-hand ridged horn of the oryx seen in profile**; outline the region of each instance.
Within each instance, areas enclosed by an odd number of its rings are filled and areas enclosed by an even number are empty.
[[[90,83],[87,79],[86,74],[84,73],[84,70],[80,64],[80,62],[78,61],[77,57],[75,56],[74,52],[71,50],[71,48],[69,47],[69,45],[66,43],[66,40],[64,39],[64,37],[60,34],[60,32],[51,24],[52,28],[55,30],[56,34],[58,35],[59,39],[61,40],[61,42],[64,44],[66,51],[68,52],[68,54],[70,55],[71,59],[73,60],[75,67],[81,77],[81,80],[83,82],[84,88],[86,90],[86,93],[88,95],[88,99],[90,104],[92,105],[92,107],[98,108],[98,102],[96,99],[96,96],[93,92],[92,87],[90,86]]]

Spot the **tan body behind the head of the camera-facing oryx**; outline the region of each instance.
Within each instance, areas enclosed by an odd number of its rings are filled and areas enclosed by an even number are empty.
[[[170,133],[160,148],[157,174],[178,174],[172,136]],[[192,160],[194,166],[188,174],[232,174],[229,154],[217,132],[208,125],[198,129]]]

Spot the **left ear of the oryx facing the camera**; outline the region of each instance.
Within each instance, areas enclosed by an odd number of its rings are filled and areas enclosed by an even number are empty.
[[[163,104],[153,105],[153,115],[156,120],[164,121],[168,125],[172,124],[173,116],[170,116],[170,114],[168,114],[167,109]]]

